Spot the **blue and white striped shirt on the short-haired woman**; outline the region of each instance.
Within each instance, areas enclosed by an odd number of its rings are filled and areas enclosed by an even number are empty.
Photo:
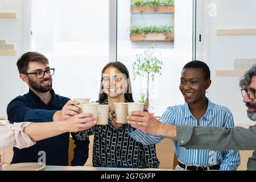
[[[167,107],[160,121],[174,125],[194,125],[197,120],[191,114],[188,104]],[[208,100],[207,112],[200,118],[200,126],[234,127],[232,113],[225,106],[213,104]],[[144,145],[159,143],[164,137],[151,135],[141,130],[135,130],[129,125],[129,134]],[[210,151],[193,150],[180,147],[176,140],[173,140],[178,160],[181,163],[192,166],[211,166],[220,164],[220,170],[236,170],[240,165],[239,151]]]

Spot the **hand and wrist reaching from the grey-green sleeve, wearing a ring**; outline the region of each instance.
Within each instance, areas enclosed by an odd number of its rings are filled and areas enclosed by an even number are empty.
[[[149,113],[133,111],[127,119],[128,124],[130,124],[134,129],[139,129],[153,135],[162,135],[164,137],[176,139],[177,126],[162,123]]]

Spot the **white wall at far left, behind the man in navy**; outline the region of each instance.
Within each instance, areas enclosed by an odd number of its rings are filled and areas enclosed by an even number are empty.
[[[7,104],[16,96],[23,94],[24,84],[19,78],[16,61],[20,54],[26,51],[24,29],[26,29],[27,22],[23,14],[23,7],[26,7],[24,5],[27,5],[26,0],[0,1],[0,12],[18,14],[18,19],[0,18],[0,40],[6,40],[7,44],[14,44],[18,51],[18,56],[0,56],[0,117],[6,117]]]

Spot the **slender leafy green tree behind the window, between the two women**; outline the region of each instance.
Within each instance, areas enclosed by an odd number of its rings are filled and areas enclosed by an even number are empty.
[[[141,101],[148,109],[149,83],[155,80],[155,74],[160,74],[163,69],[163,62],[156,57],[155,45],[149,46],[141,55],[137,55],[137,59],[133,63],[133,78],[137,76],[147,78],[146,100],[145,94],[142,94]]]

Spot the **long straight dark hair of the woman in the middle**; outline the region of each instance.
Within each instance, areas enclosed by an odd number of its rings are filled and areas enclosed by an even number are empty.
[[[104,101],[108,98],[108,95],[103,90],[103,84],[102,84],[102,79],[103,79],[102,75],[103,75],[105,69],[108,68],[108,67],[117,68],[121,73],[125,74],[126,78],[129,78],[129,71],[123,63],[121,63],[119,61],[113,61],[113,62],[110,62],[110,63],[106,64],[105,67],[102,69],[102,72],[101,72],[101,86],[100,86],[100,93],[98,95],[98,102],[102,102],[102,101]],[[130,81],[130,79],[129,79],[129,84],[127,86],[127,91],[125,92],[125,98],[128,102],[134,102],[133,94],[131,92],[131,81]]]

